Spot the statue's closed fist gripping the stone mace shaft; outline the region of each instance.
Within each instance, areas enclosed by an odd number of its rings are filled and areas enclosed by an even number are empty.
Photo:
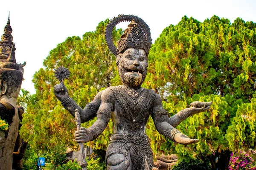
[[[80,130],[75,132],[75,140],[76,142],[89,142],[93,140],[93,134],[85,127],[81,127]]]

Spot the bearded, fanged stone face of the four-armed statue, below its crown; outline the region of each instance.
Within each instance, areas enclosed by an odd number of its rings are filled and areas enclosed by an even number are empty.
[[[128,48],[119,61],[118,72],[124,85],[140,87],[147,75],[148,60],[142,49]]]

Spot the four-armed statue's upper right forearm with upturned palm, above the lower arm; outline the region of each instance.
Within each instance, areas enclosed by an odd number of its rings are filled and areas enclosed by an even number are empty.
[[[193,102],[191,104],[191,108],[186,108],[180,111],[179,113],[175,114],[174,116],[170,117],[167,122],[176,127],[179,125],[183,120],[187,119],[189,116],[192,116],[196,113],[201,113],[207,111],[212,105],[212,102]]]

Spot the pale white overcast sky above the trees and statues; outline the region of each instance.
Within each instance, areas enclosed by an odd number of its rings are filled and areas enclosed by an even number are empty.
[[[231,23],[237,17],[256,22],[253,0],[1,0],[0,5],[0,35],[10,11],[16,60],[27,62],[22,88],[32,94],[32,77],[44,67],[51,49],[67,37],[82,37],[94,31],[100,21],[118,14],[133,14],[145,20],[153,43],[164,28],[176,25],[184,15],[201,22],[214,14]]]

